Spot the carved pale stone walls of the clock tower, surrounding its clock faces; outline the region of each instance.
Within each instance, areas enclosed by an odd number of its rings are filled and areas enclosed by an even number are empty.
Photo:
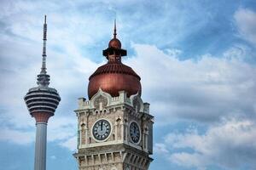
[[[153,153],[153,121],[149,104],[138,94],[111,97],[101,89],[90,100],[79,99],[78,153],[79,170],[146,170]],[[96,139],[93,127],[99,120],[110,124],[106,139]],[[131,122],[137,124],[137,143],[131,139]],[[131,132],[132,131],[132,132]],[[134,132],[135,133],[135,132]],[[107,135],[106,135],[107,136]]]

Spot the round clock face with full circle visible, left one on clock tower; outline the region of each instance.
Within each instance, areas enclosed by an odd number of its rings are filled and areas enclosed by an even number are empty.
[[[111,131],[110,123],[107,120],[101,119],[92,127],[92,133],[95,139],[107,139]]]

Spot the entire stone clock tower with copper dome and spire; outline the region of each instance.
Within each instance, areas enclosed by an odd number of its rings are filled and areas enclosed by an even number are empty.
[[[147,170],[153,159],[153,121],[141,98],[141,78],[121,58],[126,50],[116,37],[103,55],[108,63],[90,76],[88,97],[79,99],[79,170]]]

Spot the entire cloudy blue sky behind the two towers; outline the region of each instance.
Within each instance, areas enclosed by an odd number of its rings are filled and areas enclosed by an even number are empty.
[[[77,169],[76,116],[106,62],[117,19],[123,59],[142,77],[154,122],[150,169],[256,169],[255,1],[0,2],[0,166],[33,168],[36,86],[48,16],[47,67],[61,104],[48,126],[49,170]],[[14,161],[15,160],[15,161]]]

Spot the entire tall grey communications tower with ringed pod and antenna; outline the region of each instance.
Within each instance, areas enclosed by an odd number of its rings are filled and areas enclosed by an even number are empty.
[[[44,16],[44,47],[42,68],[38,74],[38,87],[30,88],[24,97],[27,109],[36,119],[36,144],[34,170],[46,169],[46,139],[47,122],[50,116],[55,115],[55,109],[61,101],[61,97],[55,88],[49,88],[49,75],[46,72],[46,15]]]

